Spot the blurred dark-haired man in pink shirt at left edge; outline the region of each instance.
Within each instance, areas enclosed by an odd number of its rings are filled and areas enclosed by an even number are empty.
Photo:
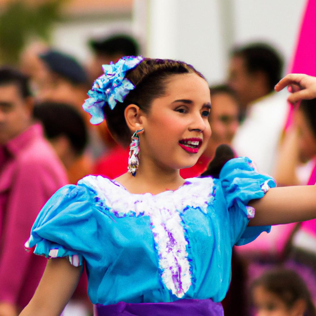
[[[46,258],[23,247],[49,197],[67,184],[64,167],[32,120],[27,78],[0,68],[0,315],[13,316],[32,297]]]

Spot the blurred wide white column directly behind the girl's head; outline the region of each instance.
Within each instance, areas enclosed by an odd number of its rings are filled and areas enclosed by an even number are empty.
[[[147,56],[180,59],[210,83],[223,80],[229,36],[223,36],[220,10],[225,6],[218,1],[226,0],[135,0],[134,23],[146,30]]]

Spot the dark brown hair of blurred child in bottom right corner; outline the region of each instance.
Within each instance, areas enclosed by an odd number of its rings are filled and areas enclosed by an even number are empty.
[[[293,307],[297,300],[303,299],[306,302],[304,316],[316,315],[306,284],[293,270],[284,268],[269,270],[254,281],[252,289],[257,286],[262,286],[268,292],[275,294],[288,308]]]

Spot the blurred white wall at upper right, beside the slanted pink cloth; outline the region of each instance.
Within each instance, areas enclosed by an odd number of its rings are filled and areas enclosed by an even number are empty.
[[[296,45],[306,0],[233,0],[236,43],[267,40],[288,63]]]

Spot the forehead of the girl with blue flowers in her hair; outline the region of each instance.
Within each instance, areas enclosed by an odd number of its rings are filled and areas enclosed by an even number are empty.
[[[171,75],[165,86],[165,96],[179,99],[204,99],[210,101],[208,83],[195,73]]]

